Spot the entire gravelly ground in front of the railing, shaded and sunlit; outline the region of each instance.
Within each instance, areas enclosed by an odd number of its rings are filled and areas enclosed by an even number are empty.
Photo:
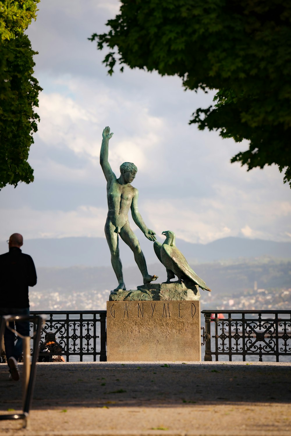
[[[0,414],[20,412],[5,364],[0,386]],[[41,363],[28,428],[0,435],[290,436],[290,402],[290,363]]]

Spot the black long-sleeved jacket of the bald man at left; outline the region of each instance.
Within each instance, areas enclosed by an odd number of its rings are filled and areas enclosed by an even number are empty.
[[[36,280],[33,260],[20,248],[0,255],[0,307],[29,307],[28,286]]]

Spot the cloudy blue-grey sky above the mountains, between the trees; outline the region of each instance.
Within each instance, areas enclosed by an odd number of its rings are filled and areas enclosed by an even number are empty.
[[[34,183],[0,191],[6,240],[102,236],[106,182],[99,165],[102,131],[110,126],[110,164],[138,167],[134,186],[149,228],[172,230],[189,242],[226,236],[291,241],[291,190],[277,167],[246,172],[230,158],[246,143],[188,125],[211,95],[184,92],[177,77],[118,68],[107,75],[106,54],[87,40],[106,30],[116,0],[41,0],[28,28],[35,76],[43,91],[29,162]],[[135,228],[135,226],[133,226]],[[142,238],[138,230],[138,237]]]

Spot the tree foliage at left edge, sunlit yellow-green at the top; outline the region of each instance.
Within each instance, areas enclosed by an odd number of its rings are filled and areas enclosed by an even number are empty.
[[[27,162],[36,132],[41,87],[32,76],[37,54],[24,31],[40,0],[0,1],[0,189],[34,180]]]

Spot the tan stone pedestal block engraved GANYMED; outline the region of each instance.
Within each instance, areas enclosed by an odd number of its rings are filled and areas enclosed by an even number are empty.
[[[199,301],[107,301],[107,361],[200,361]]]

